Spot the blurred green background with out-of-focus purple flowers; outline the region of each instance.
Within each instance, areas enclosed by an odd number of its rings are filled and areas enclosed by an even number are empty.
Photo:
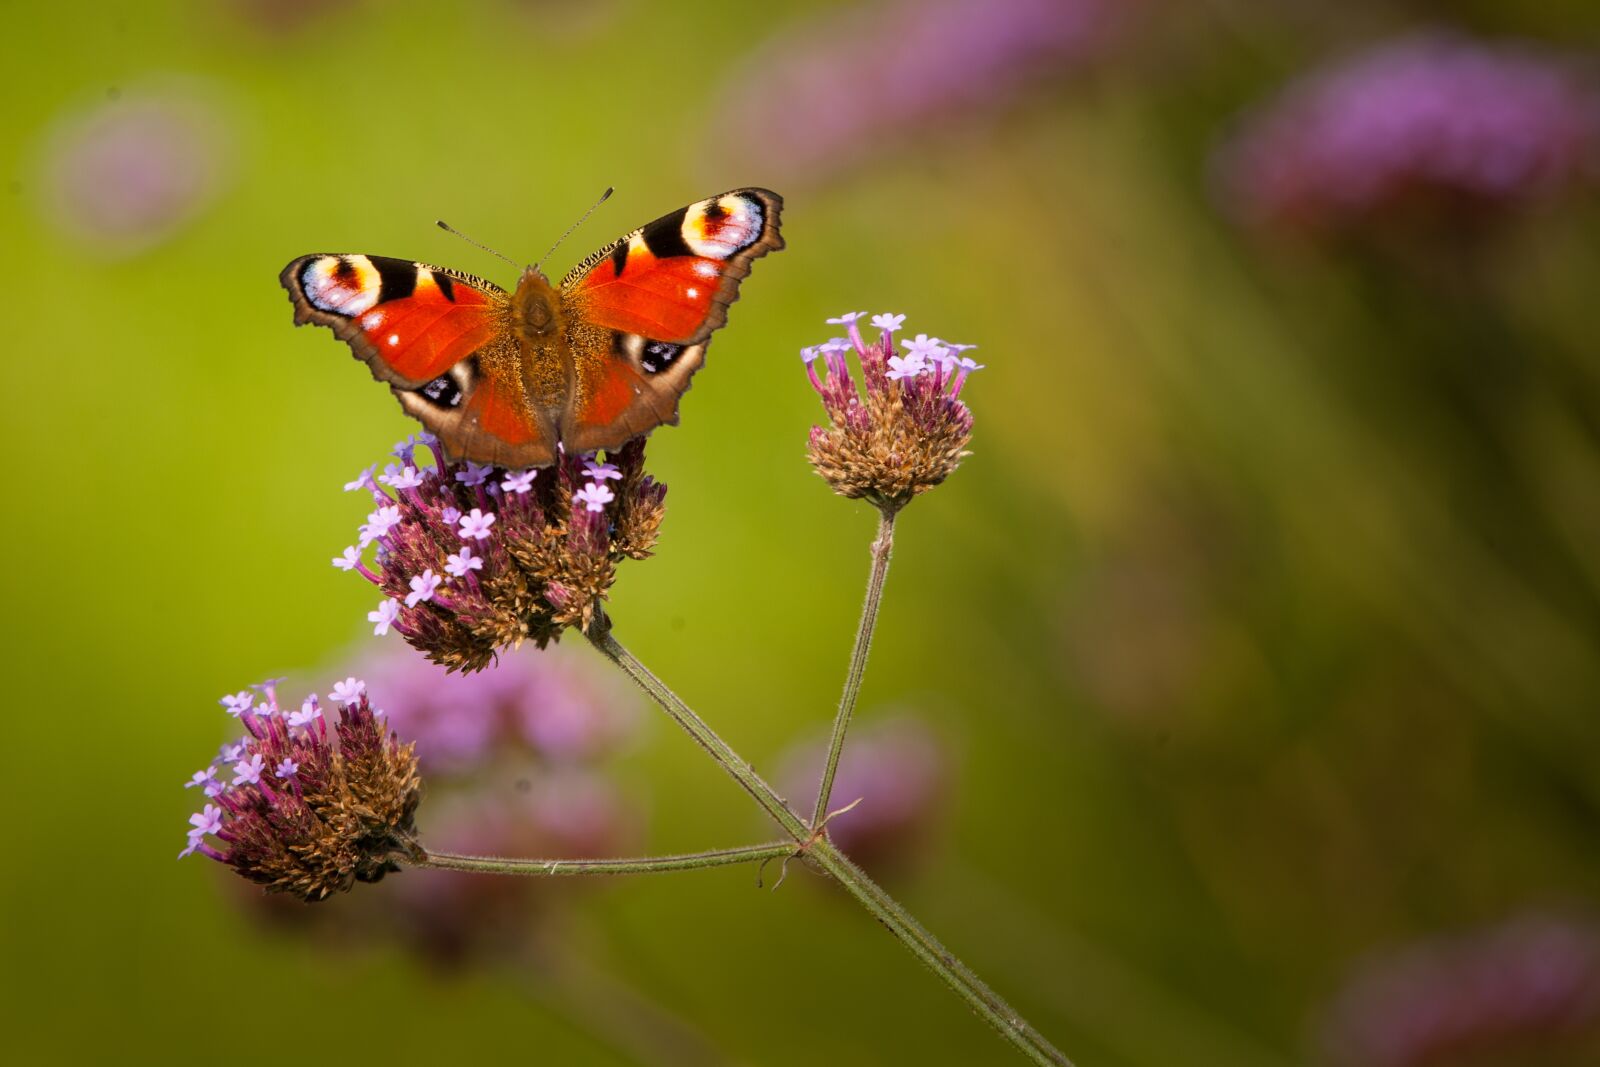
[[[1013,1062],[805,870],[309,910],[173,862],[219,694],[443,699],[328,566],[413,426],[282,264],[506,282],[434,219],[528,259],[616,186],[558,274],[741,184],[789,250],[651,440],[619,637],[803,792],[872,517],[797,350],[978,344],[859,718],[886,885],[1080,1064],[1600,1062],[1594,5],[0,10],[11,1062]],[[429,840],[768,833],[570,645],[518,656],[566,733],[467,745]]]

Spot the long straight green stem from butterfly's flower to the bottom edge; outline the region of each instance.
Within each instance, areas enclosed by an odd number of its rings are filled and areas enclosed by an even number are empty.
[[[973,974],[966,965],[950,955],[894,897],[872,881],[861,867],[853,864],[819,830],[813,830],[800,816],[790,811],[784,798],[762,781],[750,769],[750,765],[739,758],[688,704],[680,701],[661,678],[653,675],[642,662],[634,659],[632,653],[618,643],[616,637],[611,635],[611,624],[605,616],[597,616],[595,625],[589,627],[586,637],[602,656],[621,667],[629,678],[672,717],[672,721],[678,723],[712,760],[728,771],[744,792],[755,798],[763,811],[778,821],[784,832],[795,840],[795,845],[784,846],[786,853],[805,854],[826,873],[832,875],[850,896],[856,897],[874,918],[883,923],[939,981],[949,985],[982,1019],[1000,1030],[1000,1035],[1030,1061],[1054,1067],[1072,1067],[1072,1061],[1046,1041],[1038,1030],[1029,1025],[1022,1016],[989,989],[982,979]]]

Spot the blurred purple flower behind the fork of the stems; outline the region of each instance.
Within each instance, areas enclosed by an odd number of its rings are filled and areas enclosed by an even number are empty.
[[[826,742],[805,744],[779,763],[786,795],[816,803]],[[949,784],[949,760],[939,739],[910,717],[885,718],[850,731],[834,777],[838,811],[827,832],[858,862],[874,869],[904,867],[915,861],[938,824]]]

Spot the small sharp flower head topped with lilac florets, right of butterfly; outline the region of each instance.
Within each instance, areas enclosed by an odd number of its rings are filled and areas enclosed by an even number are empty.
[[[973,346],[922,333],[896,347],[904,315],[874,315],[872,325],[882,333],[867,344],[858,325],[864,315],[829,318],[850,338],[800,350],[830,419],[830,426],[811,427],[808,453],[835,493],[893,514],[944,482],[968,454],[973,413],[958,397],[966,376],[982,365],[963,355]],[[850,352],[861,363],[859,387],[846,360]]]

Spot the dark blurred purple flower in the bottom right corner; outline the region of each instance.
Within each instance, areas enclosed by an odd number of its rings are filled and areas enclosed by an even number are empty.
[[[1334,1000],[1323,1038],[1328,1059],[1352,1067],[1600,1051],[1600,929],[1525,917],[1376,958]]]

